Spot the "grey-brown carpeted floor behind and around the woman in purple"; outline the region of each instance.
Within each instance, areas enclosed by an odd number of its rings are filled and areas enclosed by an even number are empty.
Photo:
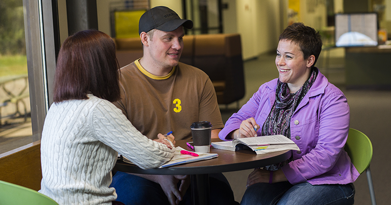
[[[275,55],[262,55],[255,60],[244,63],[246,82],[245,97],[239,101],[243,105],[258,90],[259,86],[278,77]],[[322,63],[318,63],[318,65]],[[388,160],[391,147],[391,91],[374,90],[346,90],[344,87],[344,60],[330,59],[330,68],[320,67],[329,82],[338,86],[346,95],[350,107],[350,127],[364,132],[372,141],[373,157],[371,163],[372,179],[378,205],[386,205],[391,201],[391,177],[389,176],[391,164]],[[222,110],[221,115],[225,122],[236,111],[235,103],[229,105],[230,109]],[[245,191],[247,176],[252,170],[227,172],[224,175],[234,190],[236,201],[240,202]],[[356,188],[355,205],[369,205],[369,188],[367,177],[363,173],[354,183]]]

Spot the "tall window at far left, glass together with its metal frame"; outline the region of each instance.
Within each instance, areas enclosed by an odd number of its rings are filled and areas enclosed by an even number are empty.
[[[41,139],[58,49],[54,14],[52,0],[0,1],[0,157]]]

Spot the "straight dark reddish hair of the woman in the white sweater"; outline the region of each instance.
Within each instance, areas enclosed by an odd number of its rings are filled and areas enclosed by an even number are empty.
[[[114,41],[101,31],[79,31],[61,46],[53,101],[88,99],[91,93],[115,102],[120,98],[119,75]]]

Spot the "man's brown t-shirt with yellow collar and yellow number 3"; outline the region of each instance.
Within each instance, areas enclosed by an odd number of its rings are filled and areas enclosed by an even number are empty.
[[[173,131],[175,140],[191,138],[193,122],[222,128],[215,88],[200,69],[179,62],[164,77],[148,73],[136,60],[121,68],[121,100],[114,104],[142,134]]]

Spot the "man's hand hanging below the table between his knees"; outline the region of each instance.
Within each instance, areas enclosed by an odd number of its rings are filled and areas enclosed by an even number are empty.
[[[190,178],[188,175],[159,175],[157,177],[157,182],[166,194],[170,205],[178,205],[189,187]],[[182,182],[178,190],[176,184],[178,184],[179,180],[182,180]]]

